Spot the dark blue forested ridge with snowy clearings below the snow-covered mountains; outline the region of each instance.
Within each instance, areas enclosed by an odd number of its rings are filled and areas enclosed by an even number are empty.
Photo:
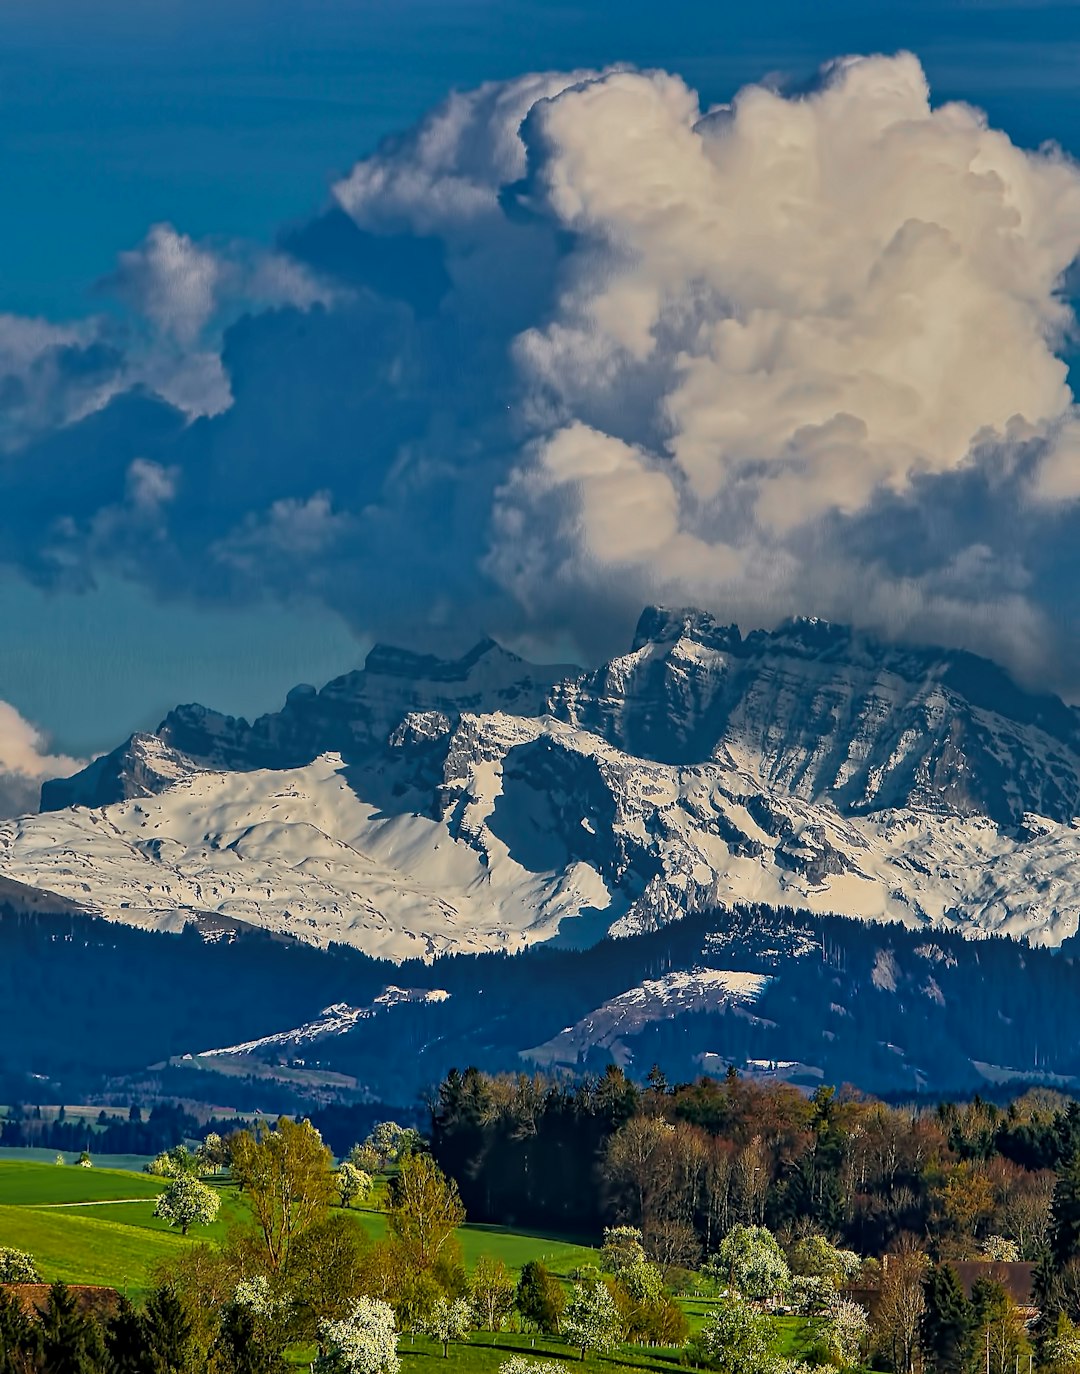
[[[767,981],[749,1006],[702,1009],[675,996],[611,1033],[596,1029],[610,999],[687,970]],[[389,985],[448,996],[374,1006]],[[206,1072],[212,1061],[180,1058],[287,1032],[334,1003],[372,1010],[341,1033],[234,1057],[227,1092],[221,1074]],[[7,910],[0,1004],[12,1028],[0,1039],[7,1101],[34,1101],[27,1074],[63,1085],[74,1101],[159,1065],[175,1095],[265,1106],[267,1069],[294,1057],[309,1080],[350,1080],[339,1084],[341,1101],[401,1105],[470,1063],[580,1074],[614,1059],[632,1077],[660,1063],[672,1081],[734,1063],[786,1073],[807,1090],[852,1083],[901,1098],[970,1095],[1009,1081],[1080,1084],[1070,949],[756,907],[688,915],[591,949],[401,965],[261,933],[203,940],[194,927],[158,934],[82,914]],[[552,1051],[574,1026],[585,1030],[569,1051]],[[280,1083],[273,1106],[291,1109],[305,1091],[304,1074]],[[333,1084],[320,1085],[319,1101],[334,1095]]]

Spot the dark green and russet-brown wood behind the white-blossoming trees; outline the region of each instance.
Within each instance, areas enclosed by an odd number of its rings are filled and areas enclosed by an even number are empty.
[[[570,1085],[448,1074],[431,1149],[475,1220],[599,1234],[631,1224],[694,1265],[732,1226],[820,1231],[881,1254],[903,1235],[936,1257],[1015,1259],[1046,1242],[1057,1173],[1080,1157],[1080,1103],[1033,1090],[1004,1107],[893,1107],[863,1094],[723,1079],[635,1084],[617,1068]]]

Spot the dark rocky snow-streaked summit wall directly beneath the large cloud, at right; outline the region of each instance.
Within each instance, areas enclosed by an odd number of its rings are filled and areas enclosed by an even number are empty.
[[[742,636],[647,610],[633,650],[556,686],[551,712],[629,753],[731,763],[846,815],[897,807],[1068,822],[1080,719],[970,654],[881,644],[816,620]]]

